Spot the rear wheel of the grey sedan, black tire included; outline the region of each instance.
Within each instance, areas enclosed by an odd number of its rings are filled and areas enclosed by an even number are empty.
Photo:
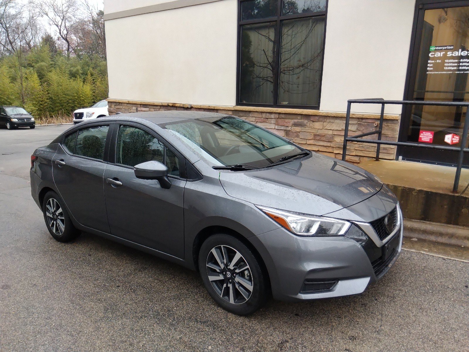
[[[54,207],[55,202],[57,203],[58,207],[60,207],[61,211],[54,214],[54,212],[59,209]],[[51,208],[53,209],[52,212],[50,211]],[[44,221],[45,226],[47,226],[47,230],[49,230],[51,236],[54,237],[57,241],[69,242],[80,235],[80,232],[75,228],[75,226],[73,226],[73,223],[70,220],[70,216],[63,206],[62,199],[54,191],[49,191],[45,194],[44,201],[42,203],[42,213],[44,214]]]

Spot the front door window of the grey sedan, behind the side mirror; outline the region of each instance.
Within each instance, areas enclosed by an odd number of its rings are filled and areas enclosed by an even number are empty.
[[[150,133],[133,126],[121,126],[117,137],[116,162],[135,166],[146,161],[159,161],[168,174],[179,176],[179,158]]]

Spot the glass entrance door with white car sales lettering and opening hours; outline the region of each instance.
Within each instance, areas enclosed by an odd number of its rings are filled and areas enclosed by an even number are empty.
[[[469,1],[421,1],[408,100],[469,101]],[[460,146],[466,108],[405,106],[400,140]],[[467,147],[467,145],[466,145]],[[457,152],[400,147],[400,159],[455,165]],[[466,153],[463,164],[469,165]]]

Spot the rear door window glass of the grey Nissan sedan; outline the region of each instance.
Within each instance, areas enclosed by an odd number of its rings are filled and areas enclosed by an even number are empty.
[[[96,126],[78,130],[74,154],[103,160],[107,130],[109,130],[109,126]]]

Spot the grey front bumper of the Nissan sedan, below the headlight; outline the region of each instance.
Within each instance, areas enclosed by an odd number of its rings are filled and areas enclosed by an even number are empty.
[[[330,298],[362,293],[386,274],[401,253],[402,222],[399,227],[387,247],[371,238],[361,245],[348,237],[299,237],[283,228],[250,240],[265,261],[275,299]],[[386,249],[392,251],[388,257]],[[304,292],[306,282],[326,281],[336,283],[329,290]]]

